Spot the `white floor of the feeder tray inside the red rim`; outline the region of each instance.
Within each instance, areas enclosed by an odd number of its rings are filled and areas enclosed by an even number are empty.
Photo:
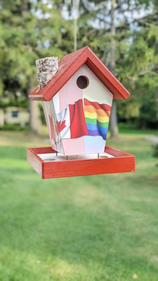
[[[61,153],[41,153],[41,154],[37,154],[42,160],[44,160],[44,162],[54,162],[54,161],[67,161],[66,160],[66,155],[62,155]],[[103,156],[103,158],[105,156],[107,156],[108,158],[110,157],[115,157],[111,154],[108,154],[106,152],[103,153],[99,153],[99,158],[102,158],[101,156]],[[48,161],[45,159],[55,159],[52,161]],[[68,160],[84,160],[84,159],[98,159],[98,154],[97,153],[92,153],[92,154],[79,154],[77,155],[68,155]]]

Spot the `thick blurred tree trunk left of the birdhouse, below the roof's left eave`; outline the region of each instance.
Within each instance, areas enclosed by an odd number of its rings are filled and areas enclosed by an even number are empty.
[[[33,79],[29,78],[28,81],[28,95],[33,89]],[[29,121],[29,132],[42,135],[42,121],[40,117],[39,102],[29,99],[29,111],[30,111],[30,121]]]

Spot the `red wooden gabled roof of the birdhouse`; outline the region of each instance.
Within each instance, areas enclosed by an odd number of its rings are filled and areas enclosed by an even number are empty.
[[[41,90],[38,90],[37,86],[30,93],[29,98],[31,100],[51,100],[83,64],[86,64],[95,73],[114,95],[115,100],[128,99],[130,93],[87,46],[64,56],[59,62],[59,70],[55,76]]]

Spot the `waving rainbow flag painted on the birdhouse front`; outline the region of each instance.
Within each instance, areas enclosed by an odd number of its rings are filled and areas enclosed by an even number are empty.
[[[90,102],[84,98],[85,122],[89,136],[102,136],[106,140],[110,112],[110,105]]]

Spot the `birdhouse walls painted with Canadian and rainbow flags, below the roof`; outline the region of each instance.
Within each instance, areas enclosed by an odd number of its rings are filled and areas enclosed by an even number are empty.
[[[87,88],[76,83],[89,80]],[[42,102],[52,148],[63,155],[104,152],[113,95],[83,65],[49,102]]]

